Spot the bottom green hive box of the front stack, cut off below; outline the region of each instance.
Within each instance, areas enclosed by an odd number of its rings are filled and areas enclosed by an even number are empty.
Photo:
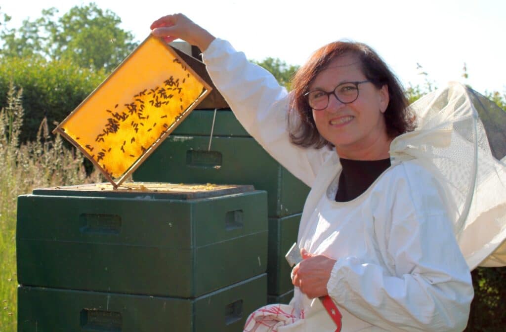
[[[239,332],[266,304],[265,274],[195,299],[20,286],[19,332]]]

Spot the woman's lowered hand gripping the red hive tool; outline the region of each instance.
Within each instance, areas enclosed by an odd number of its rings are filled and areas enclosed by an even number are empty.
[[[335,260],[323,255],[311,255],[301,249],[303,261],[292,271],[294,285],[310,299],[328,295],[327,283]]]

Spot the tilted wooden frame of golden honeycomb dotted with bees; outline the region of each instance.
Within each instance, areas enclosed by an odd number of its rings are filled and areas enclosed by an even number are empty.
[[[150,35],[55,129],[116,188],[212,88]]]

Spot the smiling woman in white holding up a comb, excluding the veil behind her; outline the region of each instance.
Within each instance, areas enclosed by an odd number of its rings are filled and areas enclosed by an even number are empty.
[[[391,162],[391,145],[413,129],[412,117],[397,79],[370,48],[323,47],[289,95],[181,14],[151,29],[198,46],[245,129],[312,188],[299,228],[305,259],[292,271],[294,298],[276,307],[289,312],[273,318],[264,308],[245,330],[333,331],[317,299],[326,295],[343,316],[343,331],[465,328],[473,286],[444,188],[416,159]]]

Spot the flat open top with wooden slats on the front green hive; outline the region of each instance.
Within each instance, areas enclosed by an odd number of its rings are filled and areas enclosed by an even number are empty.
[[[124,182],[116,189],[110,183],[95,183],[34,189],[33,194],[185,200],[239,194],[253,190],[255,189],[252,185]]]

